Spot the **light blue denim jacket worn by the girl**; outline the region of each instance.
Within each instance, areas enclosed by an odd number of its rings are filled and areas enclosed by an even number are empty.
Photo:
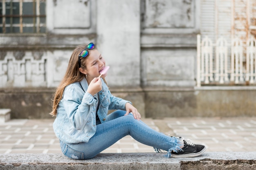
[[[99,91],[98,116],[103,123],[108,110],[125,110],[128,102],[113,96],[106,83],[102,81],[102,90]],[[87,80],[75,82],[65,87],[62,99],[57,108],[57,116],[53,129],[61,141],[66,144],[88,142],[96,132],[96,102],[90,93]],[[130,102],[129,102],[130,103]]]

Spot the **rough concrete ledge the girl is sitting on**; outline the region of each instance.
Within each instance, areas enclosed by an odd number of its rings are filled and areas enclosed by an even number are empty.
[[[0,170],[255,170],[256,152],[207,152],[195,158],[164,153],[102,153],[88,160],[62,154],[0,154]]]

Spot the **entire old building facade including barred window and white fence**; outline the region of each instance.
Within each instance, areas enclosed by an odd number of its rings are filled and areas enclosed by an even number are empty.
[[[254,0],[1,0],[0,108],[50,117],[72,50],[94,42],[110,91],[144,117],[253,116],[255,13]]]

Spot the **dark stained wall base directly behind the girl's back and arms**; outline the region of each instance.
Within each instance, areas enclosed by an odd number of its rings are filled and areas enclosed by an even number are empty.
[[[11,88],[0,90],[0,108],[11,109],[11,119],[47,119],[52,118],[52,97],[55,88]],[[145,117],[144,93],[141,89],[116,89],[112,93],[132,101],[133,105]],[[112,112],[113,110],[110,110]]]

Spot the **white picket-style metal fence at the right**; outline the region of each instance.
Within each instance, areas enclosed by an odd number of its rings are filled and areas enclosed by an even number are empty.
[[[256,40],[246,45],[239,39],[214,44],[207,36],[197,36],[197,86],[256,85]]]

